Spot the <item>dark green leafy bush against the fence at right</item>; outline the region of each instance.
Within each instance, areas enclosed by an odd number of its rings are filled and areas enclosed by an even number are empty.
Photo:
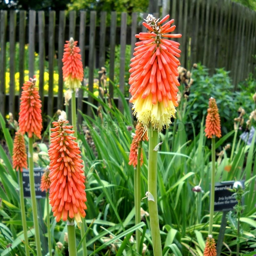
[[[244,83],[240,83],[238,90],[234,92],[229,72],[223,68],[217,68],[211,76],[207,68],[197,64],[197,68],[191,72],[194,81],[190,88],[187,110],[196,128],[200,127],[202,118],[207,114],[210,97],[217,102],[223,135],[233,130],[234,118],[238,116],[240,106],[247,113],[245,118],[254,109],[252,95],[256,90],[256,80],[252,75]]]

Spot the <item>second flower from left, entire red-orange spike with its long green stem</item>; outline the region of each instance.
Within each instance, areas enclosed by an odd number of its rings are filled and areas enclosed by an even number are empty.
[[[41,256],[41,241],[39,233],[38,214],[36,206],[36,189],[34,180],[34,163],[33,163],[33,136],[41,139],[42,115],[41,100],[38,89],[36,88],[36,78],[30,78],[23,84],[20,98],[19,127],[22,134],[28,133],[28,169],[30,197],[33,212],[33,221],[35,227],[36,252]]]

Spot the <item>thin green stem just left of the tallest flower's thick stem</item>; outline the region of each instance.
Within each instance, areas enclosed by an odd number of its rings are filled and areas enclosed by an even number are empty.
[[[135,204],[135,225],[140,223],[140,155],[141,155],[141,145],[140,141],[138,145],[137,152],[137,168],[134,169],[134,204]],[[140,231],[136,229],[136,252],[140,254]]]

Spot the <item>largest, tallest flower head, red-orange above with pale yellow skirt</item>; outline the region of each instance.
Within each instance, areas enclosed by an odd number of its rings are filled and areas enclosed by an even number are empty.
[[[140,41],[135,44],[129,70],[130,102],[133,103],[134,115],[143,126],[148,127],[151,122],[158,131],[169,127],[171,117],[175,117],[177,86],[180,85],[176,77],[180,65],[177,59],[180,57],[180,44],[168,38],[181,35],[169,34],[175,26],[171,26],[174,20],[163,24],[168,18],[166,15],[158,22],[151,14],[148,15],[146,22],[142,23],[148,32],[135,35]]]

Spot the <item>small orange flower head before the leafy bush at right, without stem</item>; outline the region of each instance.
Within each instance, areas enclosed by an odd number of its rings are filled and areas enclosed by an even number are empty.
[[[212,138],[212,136],[221,137],[219,110],[215,99],[212,97],[209,99],[204,131],[207,138]]]

